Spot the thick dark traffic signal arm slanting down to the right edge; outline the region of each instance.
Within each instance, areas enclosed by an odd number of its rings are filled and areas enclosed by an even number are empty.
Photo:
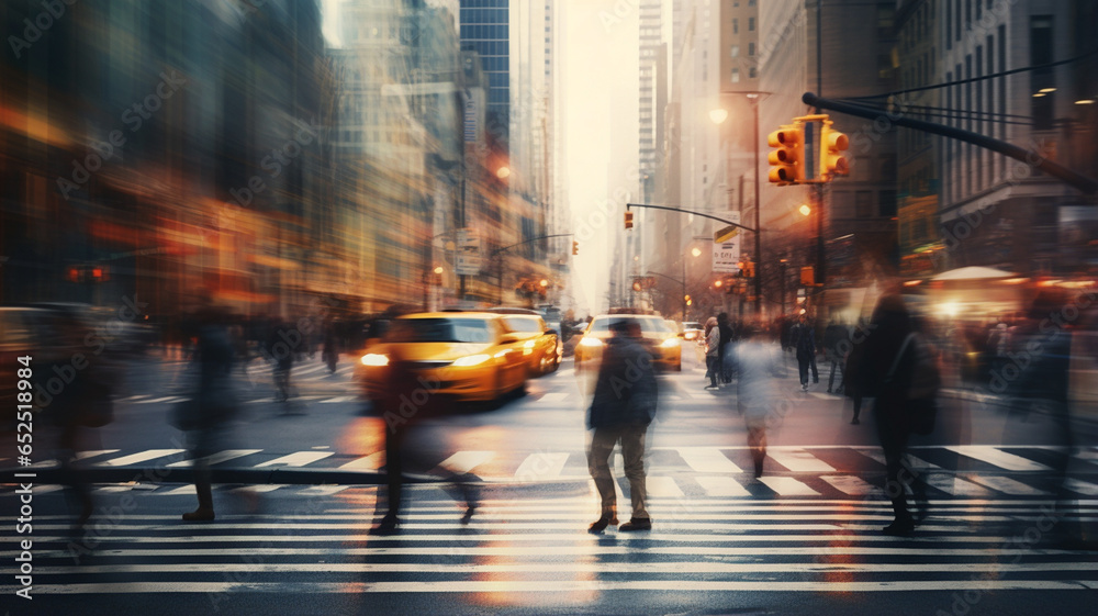
[[[1067,167],[1064,167],[1063,165],[1053,163],[1052,160],[1049,160],[1040,153],[1034,152],[1032,149],[1026,149],[1023,147],[1019,147],[1004,141],[995,139],[986,135],[981,135],[979,133],[963,131],[961,128],[954,128],[953,126],[944,126],[942,124],[934,124],[933,122],[926,122],[923,120],[914,120],[911,117],[904,117],[903,115],[888,113],[885,111],[881,111],[878,109],[872,109],[859,104],[824,99],[817,97],[811,92],[805,92],[804,96],[800,97],[800,100],[804,101],[805,104],[809,104],[819,109],[838,111],[839,113],[845,113],[847,115],[853,115],[855,117],[865,117],[867,120],[877,120],[878,117],[883,117],[886,119],[894,126],[903,126],[905,128],[912,128],[916,131],[922,131],[925,133],[942,135],[943,137],[950,137],[951,139],[957,139],[973,145],[978,145],[979,147],[990,149],[991,152],[997,152],[1004,156],[1009,156],[1015,160],[1021,160],[1027,165],[1031,165],[1044,171],[1045,173],[1049,173],[1054,178],[1063,180],[1067,184],[1082,191],[1084,194],[1094,194],[1098,192],[1098,180],[1095,180],[1094,178],[1088,178],[1087,176],[1073,171]]]

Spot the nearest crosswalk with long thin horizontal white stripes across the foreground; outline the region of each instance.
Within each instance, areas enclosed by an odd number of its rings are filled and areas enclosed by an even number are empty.
[[[569,592],[582,604],[591,598],[584,593],[608,591],[1098,589],[1093,552],[1018,538],[1039,527],[1051,501],[932,501],[914,538],[894,538],[879,531],[890,520],[887,504],[864,499],[652,499],[650,533],[592,536],[590,493],[488,500],[468,525],[439,496],[414,488],[391,537],[369,534],[373,489],[328,495],[325,506],[293,516],[187,524],[138,511],[113,522],[79,564],[71,545],[36,552],[35,595],[535,593],[549,609]],[[1069,518],[1098,519],[1098,501],[1082,502]],[[36,541],[66,545],[65,518],[35,522]]]

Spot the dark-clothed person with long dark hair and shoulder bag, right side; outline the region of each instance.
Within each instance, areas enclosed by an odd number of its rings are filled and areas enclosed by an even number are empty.
[[[918,473],[912,471],[905,457],[911,435],[906,403],[916,349],[908,338],[915,332],[915,324],[903,298],[882,296],[873,312],[870,331],[859,372],[861,391],[875,397],[873,414],[885,455],[885,493],[892,501],[895,515],[884,533],[909,536],[917,519],[908,511],[907,489],[910,488],[915,494],[919,519],[927,514],[927,497],[925,483],[916,479]]]

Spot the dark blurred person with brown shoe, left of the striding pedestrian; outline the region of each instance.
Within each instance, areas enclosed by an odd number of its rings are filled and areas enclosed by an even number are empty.
[[[187,522],[214,519],[209,457],[221,449],[222,438],[237,410],[232,384],[234,349],[224,317],[210,306],[195,315],[197,346],[192,369],[197,371],[190,400],[177,407],[176,427],[187,430],[199,506],[184,513]]]

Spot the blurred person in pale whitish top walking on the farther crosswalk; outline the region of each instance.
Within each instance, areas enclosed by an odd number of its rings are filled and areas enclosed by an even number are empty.
[[[743,338],[732,349],[739,380],[737,405],[748,430],[748,447],[754,462],[754,479],[762,477],[766,459],[766,421],[774,407],[774,379],[784,377],[783,362],[757,327],[744,327]]]

